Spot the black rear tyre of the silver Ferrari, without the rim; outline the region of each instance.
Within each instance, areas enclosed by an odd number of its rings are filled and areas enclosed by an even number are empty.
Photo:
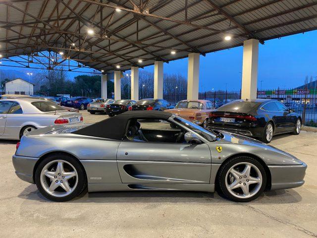
[[[77,175],[78,175],[77,186],[69,195],[64,196],[64,197],[56,197],[56,196],[49,194],[41,184],[41,171],[43,170],[44,166],[46,166],[48,163],[50,163],[51,161],[54,161],[54,160],[64,160],[64,161],[70,163],[77,171]],[[86,188],[87,178],[86,178],[86,174],[85,174],[83,168],[81,167],[81,165],[79,164],[79,162],[75,158],[73,158],[69,155],[56,153],[56,154],[49,155],[43,161],[41,161],[41,163],[39,164],[39,166],[37,167],[36,172],[35,172],[35,183],[36,183],[37,188],[41,192],[41,194],[43,196],[45,196],[46,198],[48,198],[52,201],[55,201],[55,202],[65,202],[65,201],[69,201],[69,200],[73,199],[74,197],[78,196]]]

